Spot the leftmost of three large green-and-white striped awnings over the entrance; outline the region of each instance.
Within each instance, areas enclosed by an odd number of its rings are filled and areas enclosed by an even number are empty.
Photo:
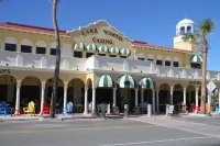
[[[97,79],[97,87],[112,88],[114,87],[114,80],[109,75],[102,75]]]

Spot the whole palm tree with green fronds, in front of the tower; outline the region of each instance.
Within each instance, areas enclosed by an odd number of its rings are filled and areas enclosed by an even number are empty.
[[[206,19],[204,20],[200,25],[198,33],[187,33],[184,34],[183,40],[185,42],[190,42],[190,43],[196,43],[197,41],[199,42],[199,46],[201,47],[201,53],[202,53],[202,81],[201,81],[201,113],[205,113],[206,111],[206,90],[207,90],[207,55],[209,50],[209,43],[208,43],[208,35],[212,33],[215,23],[211,19]]]

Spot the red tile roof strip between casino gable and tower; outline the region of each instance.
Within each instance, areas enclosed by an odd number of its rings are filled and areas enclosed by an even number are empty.
[[[132,44],[134,46],[143,46],[143,47],[145,46],[145,47],[167,49],[167,50],[173,50],[173,52],[193,53],[191,50],[185,50],[185,49],[180,49],[180,48],[168,48],[168,47],[165,47],[165,46],[156,46],[156,45],[147,44],[145,42],[139,42],[139,41],[133,41]]]

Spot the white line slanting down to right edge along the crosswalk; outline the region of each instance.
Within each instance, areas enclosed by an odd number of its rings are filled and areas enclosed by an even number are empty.
[[[194,130],[186,130],[186,128],[180,128],[180,127],[172,127],[165,124],[158,124],[158,123],[154,123],[154,122],[147,122],[147,121],[142,121],[142,120],[134,120],[131,119],[132,121],[138,121],[138,122],[142,122],[142,123],[147,123],[147,124],[153,124],[153,125],[157,125],[157,126],[164,126],[164,127],[168,127],[168,128],[173,128],[173,130],[179,130],[179,131],[184,131],[184,132],[190,132],[190,133],[196,133],[196,134],[201,134],[201,135],[206,135],[206,136],[212,136],[216,138],[220,138],[220,136],[213,135],[213,134],[208,134],[208,133],[202,133],[202,132],[196,132]]]

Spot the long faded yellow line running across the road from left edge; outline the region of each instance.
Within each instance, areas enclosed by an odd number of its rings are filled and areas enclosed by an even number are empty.
[[[105,130],[155,127],[155,126],[156,125],[133,125],[133,126],[82,127],[82,128],[62,128],[62,130],[4,131],[4,132],[0,132],[0,135],[3,135],[3,134],[25,134],[25,133],[72,132],[72,131],[105,131]]]

